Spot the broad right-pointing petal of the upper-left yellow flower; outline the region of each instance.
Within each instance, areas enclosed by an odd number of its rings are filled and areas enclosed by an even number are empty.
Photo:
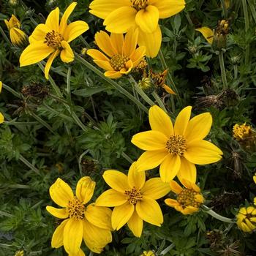
[[[78,20],[70,23],[67,26],[67,29],[64,31],[64,40],[67,42],[71,42],[75,38],[79,37],[85,31],[89,29],[88,24],[85,21]]]

